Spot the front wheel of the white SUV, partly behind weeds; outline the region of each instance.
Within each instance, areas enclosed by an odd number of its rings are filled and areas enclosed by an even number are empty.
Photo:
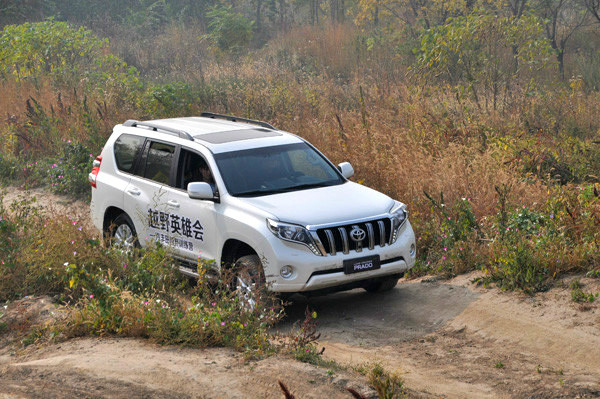
[[[265,273],[258,255],[245,255],[234,264],[232,289],[238,292],[242,305],[249,310],[256,307],[262,290],[266,288]]]

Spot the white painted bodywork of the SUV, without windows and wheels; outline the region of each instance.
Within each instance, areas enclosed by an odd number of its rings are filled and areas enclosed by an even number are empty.
[[[396,212],[405,212],[404,205],[347,180],[340,171],[343,169],[347,177],[353,173],[347,163],[340,164],[338,169],[326,161],[343,179],[341,184],[255,197],[231,195],[215,159],[219,154],[231,156],[244,150],[295,143],[305,143],[316,151],[296,135],[270,129],[264,123],[256,126],[251,123],[255,121],[234,120],[220,115],[215,119],[213,114],[213,117],[128,121],[115,126],[98,158],[100,166],[90,174],[90,181],[95,185],[91,201],[94,225],[107,232],[116,215],[125,213],[133,222],[142,247],[153,240],[162,241],[172,247],[176,257],[191,265],[197,264],[198,259],[214,260],[218,268],[235,261],[235,254],[229,252],[251,248],[261,259],[270,289],[282,293],[353,288],[376,278],[400,276],[414,265],[415,237],[407,214],[403,214],[404,219],[400,222],[400,216],[390,213],[392,208]],[[154,151],[148,149],[151,141],[168,144],[169,151],[170,146],[175,146],[174,160],[169,161],[175,169],[183,167],[182,158],[177,159],[181,154],[194,152],[202,156],[214,178],[218,200],[193,199],[189,190],[119,170],[114,148],[123,134],[128,135],[127,139],[135,136],[144,140],[142,149],[138,150],[143,154],[136,153],[132,161],[134,170],[136,164],[149,162],[148,151]],[[152,154],[155,156],[154,152]],[[173,176],[183,176],[184,172],[170,173],[171,182]],[[311,249],[303,243],[280,238],[269,227],[269,219],[273,221],[271,223],[302,226],[314,246]],[[187,226],[184,231],[178,229],[181,221]],[[365,224],[369,222],[370,227]],[[400,223],[400,226],[396,238],[392,239],[394,223]],[[384,234],[381,234],[382,225],[386,230]],[[345,231],[346,241],[340,227]],[[351,234],[362,239],[356,241]],[[329,241],[330,237],[333,241]],[[345,242],[348,242],[347,246]],[[353,260],[363,258],[366,263],[353,263]],[[371,270],[375,267],[369,263],[373,259],[378,259],[374,261],[378,267]],[[346,268],[354,267],[357,272],[346,270],[344,261]],[[291,266],[291,269],[283,272],[284,266]],[[359,271],[361,267],[369,270]],[[193,266],[181,270],[195,275]]]

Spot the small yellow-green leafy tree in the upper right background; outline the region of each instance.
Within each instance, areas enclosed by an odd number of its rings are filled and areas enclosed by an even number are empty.
[[[457,95],[470,92],[478,107],[491,98],[496,109],[508,99],[506,88],[526,71],[546,66],[550,47],[535,17],[519,19],[487,13],[449,18],[425,30],[418,53],[418,72],[456,85]],[[487,97],[487,95],[490,97]]]

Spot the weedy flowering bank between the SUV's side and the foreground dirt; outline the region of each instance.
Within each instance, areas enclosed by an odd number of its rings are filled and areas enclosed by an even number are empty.
[[[107,249],[71,217],[48,217],[33,201],[15,202],[10,211],[1,204],[0,301],[59,298],[68,317],[52,328],[64,336],[149,337],[163,344],[228,346],[251,357],[275,350],[269,328],[282,311],[269,294],[246,309],[229,288],[231,274],[190,286],[160,245],[130,254]],[[35,339],[43,336],[40,331]]]

